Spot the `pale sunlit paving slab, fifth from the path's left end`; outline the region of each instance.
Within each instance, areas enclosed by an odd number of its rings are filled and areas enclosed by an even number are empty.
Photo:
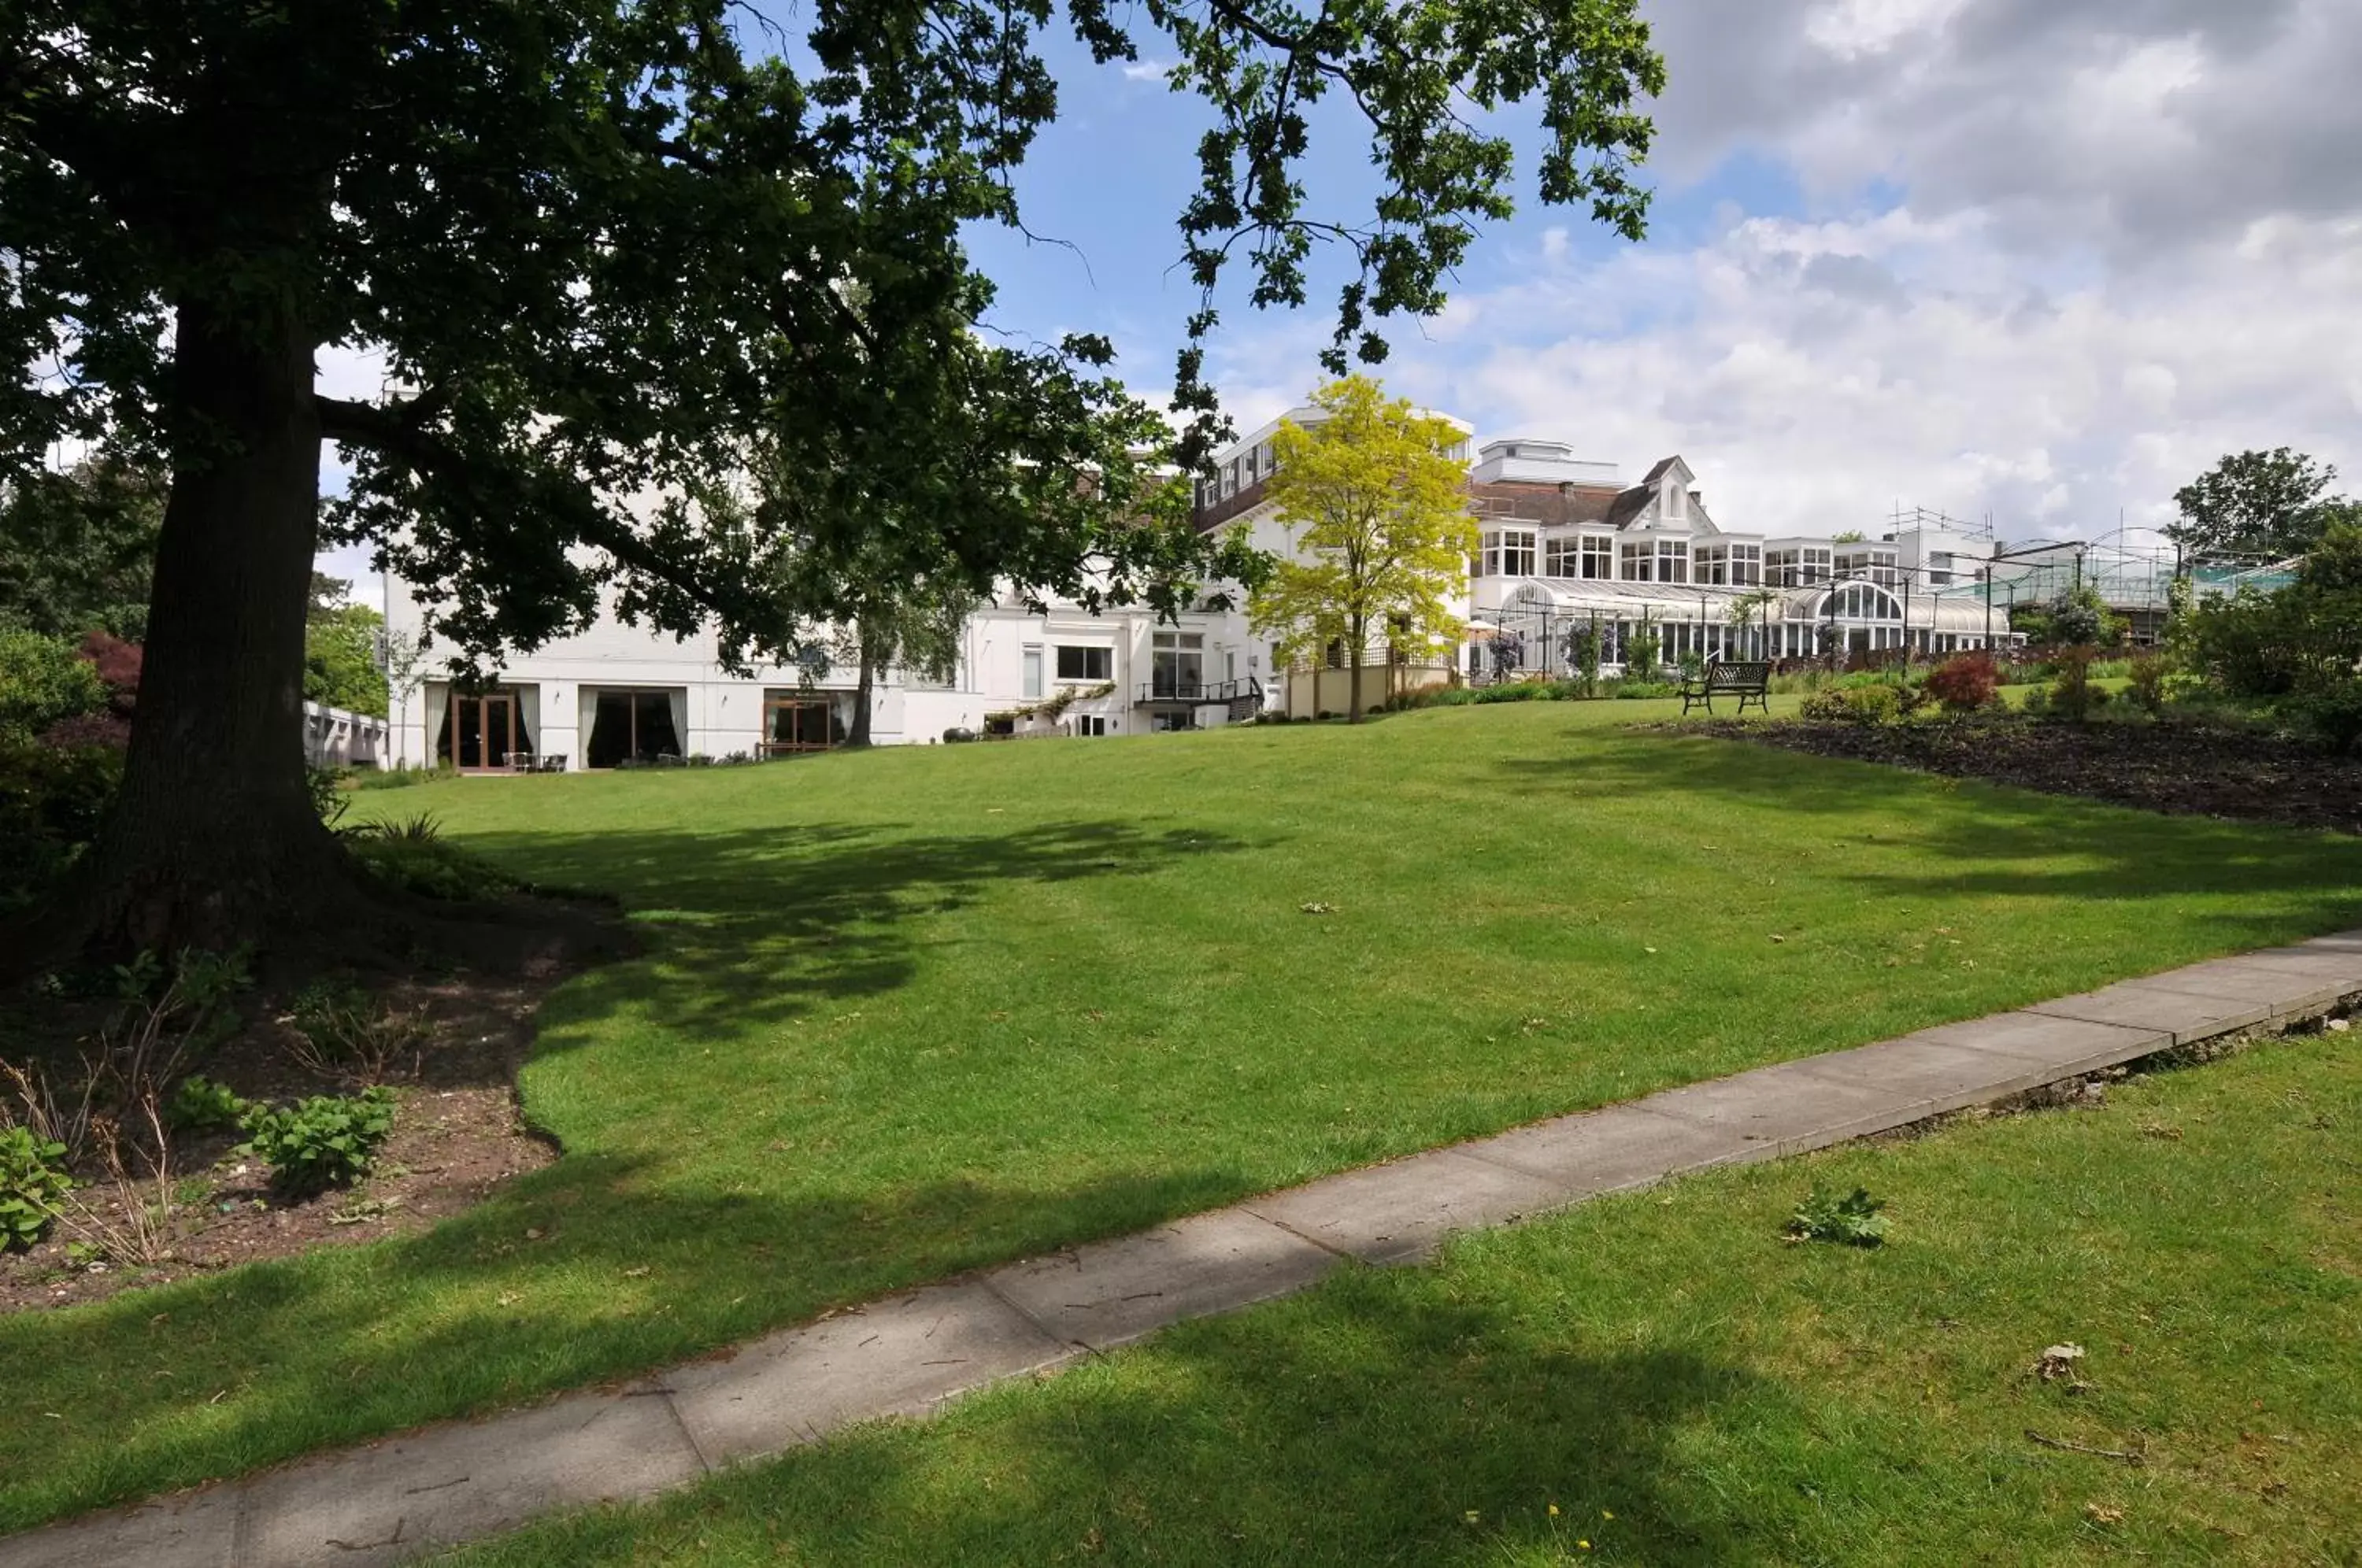
[[[1245,1204],[1365,1263],[1424,1259],[1453,1230],[1502,1226],[1573,1202],[1554,1181],[1457,1150],[1344,1171]]]

